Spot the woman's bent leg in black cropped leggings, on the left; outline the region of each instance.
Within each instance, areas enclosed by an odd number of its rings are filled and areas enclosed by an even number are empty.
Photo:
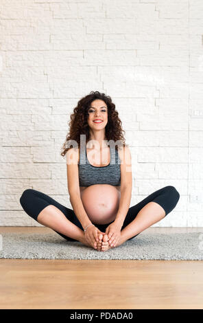
[[[20,198],[23,210],[38,223],[50,227],[67,241],[84,240],[84,231],[73,210],[66,208],[47,194],[25,190]]]

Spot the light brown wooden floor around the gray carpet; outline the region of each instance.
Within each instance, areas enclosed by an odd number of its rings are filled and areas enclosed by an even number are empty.
[[[2,232],[47,227],[0,227]],[[203,232],[150,227],[149,232]],[[0,259],[0,309],[203,309],[202,260]]]

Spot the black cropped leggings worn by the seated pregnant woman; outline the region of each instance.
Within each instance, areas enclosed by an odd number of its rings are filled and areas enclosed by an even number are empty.
[[[174,188],[174,186],[165,186],[164,188],[160,188],[160,190],[156,190],[156,192],[150,194],[148,197],[145,197],[143,201],[137,203],[136,205],[128,209],[128,213],[126,214],[126,219],[123,222],[123,226],[121,227],[121,230],[123,230],[124,227],[126,227],[130,222],[134,220],[134,218],[139,213],[139,211],[147,203],[152,201],[158,203],[165,210],[165,216],[166,216],[167,214],[169,214],[169,212],[171,212],[171,210],[175,208],[179,199],[180,199],[180,194],[178,193],[176,188]],[[77,227],[80,227],[82,231],[84,230],[82,227],[82,224],[77,219],[77,216],[75,215],[75,212],[73,210],[58,203],[56,200],[52,199],[51,197],[49,197],[47,194],[44,194],[43,192],[39,192],[38,190],[33,190],[32,188],[28,188],[27,190],[24,190],[23,194],[21,195],[20,203],[23,210],[36,221],[37,221],[38,214],[40,214],[40,212],[47,205],[54,205],[64,214],[64,216],[66,216],[66,218],[69,221],[77,225]],[[106,224],[93,223],[93,224],[95,224],[95,226],[101,232],[105,232],[106,227],[108,227],[110,223],[106,223]],[[55,232],[60,234],[60,236],[65,238],[67,241],[77,241],[69,236],[64,236],[64,234],[61,234],[58,231],[55,231]],[[136,234],[136,236],[138,236],[138,234]],[[132,236],[132,238],[134,237],[135,236]],[[132,238],[129,238],[128,240],[131,240]]]

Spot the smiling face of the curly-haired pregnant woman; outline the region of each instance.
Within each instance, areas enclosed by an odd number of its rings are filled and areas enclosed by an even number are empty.
[[[95,120],[98,119],[98,122]],[[101,120],[101,122],[99,122]],[[108,122],[108,107],[103,100],[94,100],[91,102],[91,107],[88,109],[88,126],[93,131],[105,129]]]

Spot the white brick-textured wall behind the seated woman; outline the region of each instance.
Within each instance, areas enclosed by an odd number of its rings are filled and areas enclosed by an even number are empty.
[[[115,102],[133,162],[130,206],[167,185],[154,226],[203,226],[203,1],[0,1],[0,225],[41,226],[34,188],[69,208],[60,148],[77,100]]]

